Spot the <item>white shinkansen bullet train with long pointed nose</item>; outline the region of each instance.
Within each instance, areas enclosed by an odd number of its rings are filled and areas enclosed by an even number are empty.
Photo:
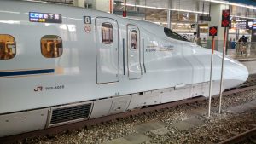
[[[212,95],[222,54],[213,55]],[[143,20],[0,1],[0,137],[208,96],[211,50]],[[224,89],[247,80],[224,57]]]

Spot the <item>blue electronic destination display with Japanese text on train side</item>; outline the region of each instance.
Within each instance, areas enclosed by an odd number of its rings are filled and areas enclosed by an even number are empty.
[[[29,12],[29,21],[42,23],[62,23],[61,14]]]

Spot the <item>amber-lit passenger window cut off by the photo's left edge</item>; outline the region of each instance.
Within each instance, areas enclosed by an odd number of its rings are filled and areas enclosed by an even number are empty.
[[[15,37],[0,34],[0,60],[9,60],[16,55]]]

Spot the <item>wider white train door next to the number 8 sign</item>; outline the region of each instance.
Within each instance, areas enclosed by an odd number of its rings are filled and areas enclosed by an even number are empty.
[[[97,84],[119,81],[118,22],[96,18],[96,76]]]

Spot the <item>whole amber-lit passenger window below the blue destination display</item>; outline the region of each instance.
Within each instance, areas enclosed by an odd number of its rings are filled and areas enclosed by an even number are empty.
[[[41,53],[46,58],[57,58],[63,53],[61,37],[46,35],[41,38]]]

